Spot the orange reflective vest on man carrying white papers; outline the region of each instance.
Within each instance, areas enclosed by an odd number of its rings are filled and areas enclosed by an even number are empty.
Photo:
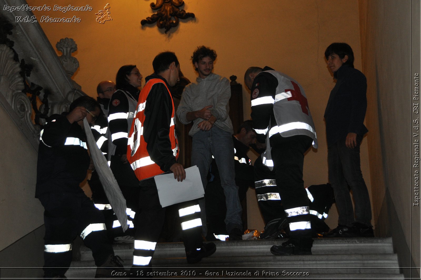
[[[165,85],[165,88],[168,90],[168,94],[171,97],[171,103],[173,106],[171,113],[170,133],[168,136],[171,140],[171,149],[173,150],[174,156],[176,157],[176,159],[178,159],[179,157],[179,149],[175,130],[175,110],[173,97],[171,96],[170,90],[168,89],[167,85],[163,80],[158,78],[150,79],[140,92],[139,102],[137,103],[137,108],[135,112],[136,116],[133,119],[127,143],[127,159],[130,162],[131,167],[133,168],[136,177],[139,180],[151,178],[155,175],[164,173],[164,171],[161,170],[159,165],[153,162],[150,158],[149,153],[146,149],[147,143],[143,138],[146,99],[150,90],[152,89],[152,86],[154,86],[156,83],[163,83]]]

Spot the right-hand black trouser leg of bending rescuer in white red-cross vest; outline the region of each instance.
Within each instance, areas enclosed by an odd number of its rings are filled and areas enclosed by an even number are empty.
[[[309,199],[304,189],[303,165],[304,153],[310,148],[312,139],[305,135],[280,137],[276,135],[272,143],[272,160],[275,169],[276,185],[278,186],[282,205],[290,224],[290,241],[301,248],[311,248],[311,228],[294,229],[293,223],[309,222],[309,213],[293,213],[293,209],[307,207],[309,211]]]

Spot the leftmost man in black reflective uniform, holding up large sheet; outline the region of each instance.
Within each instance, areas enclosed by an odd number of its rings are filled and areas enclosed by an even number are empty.
[[[79,187],[92,165],[83,120],[95,124],[99,113],[92,97],[79,97],[69,113],[50,116],[40,133],[35,197],[45,209],[43,279],[66,278],[77,235],[93,252],[96,278],[125,272],[107,240],[104,217]]]

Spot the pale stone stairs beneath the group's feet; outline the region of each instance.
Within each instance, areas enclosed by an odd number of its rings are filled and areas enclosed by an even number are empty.
[[[312,255],[272,255],[269,248],[283,241],[219,241],[212,256],[194,265],[187,264],[183,243],[158,243],[152,266],[157,278],[404,278],[391,237],[320,238],[314,240]],[[125,267],[131,267],[133,244],[113,247]],[[91,279],[95,271],[91,250],[82,246],[66,276]]]

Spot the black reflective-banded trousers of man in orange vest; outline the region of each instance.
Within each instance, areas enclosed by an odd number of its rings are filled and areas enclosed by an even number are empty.
[[[140,181],[140,196],[139,196],[139,208],[141,209],[139,215],[136,215],[136,234],[135,234],[135,249],[133,251],[133,263],[135,263],[136,256],[146,259],[143,265],[133,264],[131,269],[132,276],[142,276],[142,270],[147,267],[151,267],[150,259],[155,252],[155,246],[152,245],[150,248],[145,248],[143,245],[137,249],[138,242],[157,242],[160,236],[161,230],[164,224],[165,208],[160,204],[157,186],[154,178],[149,178]],[[180,217],[180,223],[186,221],[195,220],[196,223],[200,223],[200,226],[194,226],[189,229],[182,230],[184,248],[186,252],[195,252],[200,249],[203,245],[202,242],[202,226],[200,220],[200,208],[197,199],[190,200],[187,202],[181,202],[178,204],[179,209],[185,209],[187,207],[195,207],[192,213],[182,215]],[[149,262],[147,261],[149,259]],[[144,270],[147,271],[147,270]],[[144,275],[143,275],[144,276]]]

